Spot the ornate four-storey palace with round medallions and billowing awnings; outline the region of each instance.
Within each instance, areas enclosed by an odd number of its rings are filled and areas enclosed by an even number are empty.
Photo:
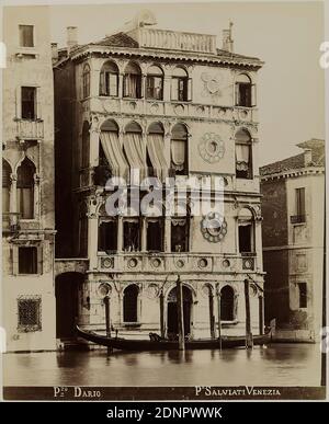
[[[231,28],[217,48],[213,35],[157,28],[148,12],[95,43],[79,45],[77,31],[67,48],[53,46],[57,339],[72,339],[76,322],[104,330],[105,295],[120,334],[174,335],[178,275],[185,334],[216,335],[218,310],[223,333],[243,334],[246,279],[252,331],[262,331],[262,62],[234,53]],[[110,216],[106,180],[129,181],[134,169],[159,181],[209,177],[209,199],[222,176],[223,211],[192,216],[188,193],[184,216]]]

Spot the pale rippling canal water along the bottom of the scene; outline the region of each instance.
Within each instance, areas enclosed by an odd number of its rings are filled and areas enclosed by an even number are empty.
[[[2,355],[4,386],[320,386],[320,360],[318,344]]]

